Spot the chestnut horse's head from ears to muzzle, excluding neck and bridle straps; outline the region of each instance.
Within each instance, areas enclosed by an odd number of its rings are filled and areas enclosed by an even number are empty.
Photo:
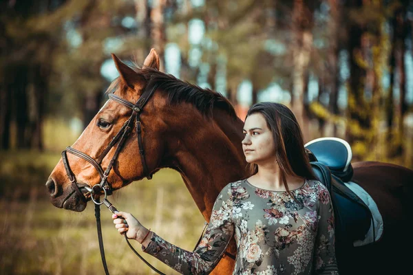
[[[112,58],[120,76],[109,87],[109,89],[114,90],[111,94],[134,105],[142,96],[145,88],[150,89],[147,87],[147,76],[149,72],[159,69],[158,54],[155,50],[151,50],[142,69],[136,70],[122,63],[114,54],[112,54]],[[140,74],[142,70],[145,70],[146,75]],[[162,138],[165,122],[161,118],[164,115],[161,114],[167,112],[166,108],[162,108],[164,105],[165,98],[162,98],[160,94],[153,94],[151,98],[148,98],[145,108],[135,112],[141,122],[137,122],[136,117],[134,117],[132,120],[135,123],[127,125],[130,135],[123,141],[124,144],[107,175],[107,183],[111,190],[126,186],[131,181],[149,177],[162,165],[160,159],[167,140]],[[106,171],[106,168],[111,165],[110,162],[116,154],[118,143],[123,131],[125,131],[125,123],[129,121],[133,112],[134,110],[125,104],[119,104],[116,100],[107,100],[78,140],[70,149],[67,149],[68,153],[64,152],[65,157],[62,157],[52,170],[46,186],[54,206],[79,212],[85,209],[86,201],[82,196],[87,193],[87,190],[83,187],[100,184],[101,172]],[[140,123],[140,138],[144,148],[138,148],[138,133],[136,133],[135,128],[137,123]],[[116,135],[118,135],[118,140],[114,141]],[[115,142],[112,147],[109,146],[111,142]],[[109,150],[107,151],[107,149]],[[81,152],[86,157],[81,157],[76,152]],[[145,152],[144,161],[139,157],[140,152]],[[87,156],[100,167],[87,161]],[[70,169],[70,174],[74,179],[72,181],[75,184],[71,183],[72,178],[67,175],[65,162],[67,162],[66,166]],[[144,171],[144,165],[148,169],[147,171]],[[81,190],[81,193],[76,192],[76,189]]]

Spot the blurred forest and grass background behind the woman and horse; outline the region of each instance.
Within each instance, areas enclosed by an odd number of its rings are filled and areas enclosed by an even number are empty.
[[[350,142],[353,162],[413,168],[413,1],[1,0],[0,274],[102,274],[93,207],[54,208],[45,181],[107,100],[110,53],[251,104],[292,108],[306,142]],[[180,175],[111,199],[192,250],[203,219]],[[103,209],[111,274],[151,274]],[[138,248],[140,250],[140,248]],[[149,259],[167,274],[176,274]]]

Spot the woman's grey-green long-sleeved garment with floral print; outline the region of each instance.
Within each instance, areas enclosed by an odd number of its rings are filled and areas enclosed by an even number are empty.
[[[144,251],[182,274],[208,274],[235,232],[233,274],[339,274],[328,190],[319,181],[306,180],[290,192],[295,199],[246,179],[228,184],[215,200],[211,221],[193,252],[155,233]]]

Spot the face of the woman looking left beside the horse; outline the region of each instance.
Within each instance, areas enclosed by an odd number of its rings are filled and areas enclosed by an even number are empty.
[[[261,113],[249,115],[245,120],[243,131],[242,150],[246,162],[258,165],[275,162],[273,133],[268,129]]]

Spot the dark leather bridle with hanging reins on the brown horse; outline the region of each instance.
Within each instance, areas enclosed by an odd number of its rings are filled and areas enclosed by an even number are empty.
[[[142,162],[142,167],[143,167],[143,175],[146,175],[147,179],[152,178],[152,173],[149,173],[149,169],[148,169],[147,162],[145,159],[145,151],[142,146],[142,126],[140,123],[140,112],[142,111],[143,107],[145,107],[145,104],[147,104],[149,98],[151,98],[154,91],[155,89],[144,89],[142,96],[140,96],[140,98],[135,104],[129,102],[128,100],[120,98],[119,96],[116,96],[114,94],[114,91],[112,91],[109,94],[109,99],[114,100],[115,102],[118,102],[119,104],[122,104],[125,107],[128,107],[129,109],[132,110],[132,113],[131,113],[131,116],[125,121],[122,128],[114,136],[111,142],[109,142],[105,150],[99,155],[99,157],[96,160],[90,157],[89,155],[81,151],[78,151],[75,148],[72,148],[70,146],[67,147],[66,150],[62,152],[63,165],[65,166],[66,174],[70,180],[70,183],[72,184],[72,187],[74,188],[74,190],[76,191],[76,193],[82,199],[83,202],[87,203],[89,199],[92,199],[92,201],[95,204],[95,217],[96,217],[96,226],[98,230],[100,256],[102,258],[102,263],[103,263],[103,268],[105,270],[105,274],[107,275],[109,275],[109,270],[107,269],[107,263],[105,259],[105,250],[103,248],[102,228],[100,225],[100,205],[105,203],[105,206],[107,206],[109,210],[111,210],[112,212],[117,211],[116,208],[114,208],[114,206],[112,205],[112,203],[109,203],[109,201],[107,201],[106,199],[107,195],[111,195],[113,192],[112,187],[109,185],[107,181],[107,177],[109,176],[109,173],[112,170],[116,162],[116,159],[118,159],[119,153],[123,148],[123,144],[125,144],[127,137],[131,133],[132,126],[135,123],[136,135],[138,135],[139,155],[140,155],[140,160]],[[107,153],[109,153],[109,151],[112,149],[112,147],[115,146],[116,143],[118,143],[118,146],[116,147],[114,156],[112,157],[111,161],[107,165],[106,170],[104,170],[101,165],[102,160],[106,157]],[[94,166],[94,168],[96,168],[96,170],[99,173],[100,184],[96,184],[92,186],[92,188],[89,188],[89,186],[84,186],[83,184],[79,184],[81,186],[79,188],[78,183],[76,182],[76,177],[74,173],[72,172],[72,170],[70,169],[69,162],[67,161],[67,153],[71,153],[73,155],[76,155],[77,157],[81,157],[82,159],[85,159],[87,162],[92,164],[92,166]],[[85,188],[87,192],[83,194],[83,192],[81,191],[81,188]],[[102,194],[105,195],[103,202],[100,202],[100,199],[94,199],[95,194],[98,196]],[[131,246],[131,244],[129,243],[129,240],[127,239],[126,234],[124,235],[125,235],[127,244],[129,245],[129,248],[131,248],[131,250],[133,250],[135,254],[139,256],[140,259],[142,259],[142,261],[144,261],[147,265],[149,265],[149,267],[151,267],[152,270],[158,272],[158,274],[163,274],[159,270],[156,270],[156,268],[150,265],[145,259],[143,259],[142,256],[140,256],[140,254],[138,254],[138,252],[136,252],[136,250],[134,250],[134,248]]]

